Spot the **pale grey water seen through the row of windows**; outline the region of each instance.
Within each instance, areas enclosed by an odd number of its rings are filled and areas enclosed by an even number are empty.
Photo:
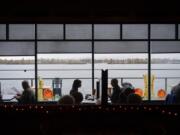
[[[92,71],[91,64],[39,64],[38,76],[41,77],[47,87],[52,88],[54,78],[62,79],[62,94],[69,94],[75,78],[82,80],[80,91],[85,94],[92,93]],[[101,70],[109,70],[109,82],[112,78],[118,78],[119,85],[130,82],[135,88],[145,89],[143,75],[147,74],[147,64],[95,64],[95,86],[96,81],[101,79]],[[172,86],[180,80],[180,64],[152,64],[152,75],[154,80],[154,97],[157,98],[159,89],[167,89],[169,93]],[[0,82],[3,98],[22,91],[21,81],[29,80],[34,87],[34,65],[33,64],[1,64]],[[167,86],[166,86],[167,85]]]

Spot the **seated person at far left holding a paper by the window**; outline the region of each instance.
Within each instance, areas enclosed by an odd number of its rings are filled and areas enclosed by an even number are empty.
[[[22,94],[17,94],[17,96],[15,96],[18,102],[23,104],[35,103],[35,94],[30,88],[28,81],[23,81],[22,87],[24,89]]]

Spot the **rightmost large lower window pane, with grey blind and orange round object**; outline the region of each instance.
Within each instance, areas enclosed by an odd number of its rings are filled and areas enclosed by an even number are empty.
[[[151,42],[151,70],[154,76],[152,100],[164,100],[172,87],[179,83],[179,45],[178,41]]]

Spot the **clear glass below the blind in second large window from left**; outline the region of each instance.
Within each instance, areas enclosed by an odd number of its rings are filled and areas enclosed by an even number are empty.
[[[61,96],[69,94],[75,79],[82,81],[79,92],[85,97],[86,94],[92,93],[92,55],[90,53],[38,54],[38,76],[44,81],[43,91],[48,88],[54,94],[56,90],[53,80],[59,78],[62,81],[58,87],[61,94],[49,98],[39,95],[39,101],[57,101]]]

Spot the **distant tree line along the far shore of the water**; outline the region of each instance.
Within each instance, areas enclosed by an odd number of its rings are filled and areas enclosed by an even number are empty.
[[[95,63],[108,64],[147,64],[148,59],[129,58],[129,59],[95,59]],[[34,64],[32,59],[25,60],[8,60],[0,59],[0,64]],[[38,64],[88,64],[92,63],[91,59],[38,59]],[[180,59],[152,59],[152,64],[180,64]]]

